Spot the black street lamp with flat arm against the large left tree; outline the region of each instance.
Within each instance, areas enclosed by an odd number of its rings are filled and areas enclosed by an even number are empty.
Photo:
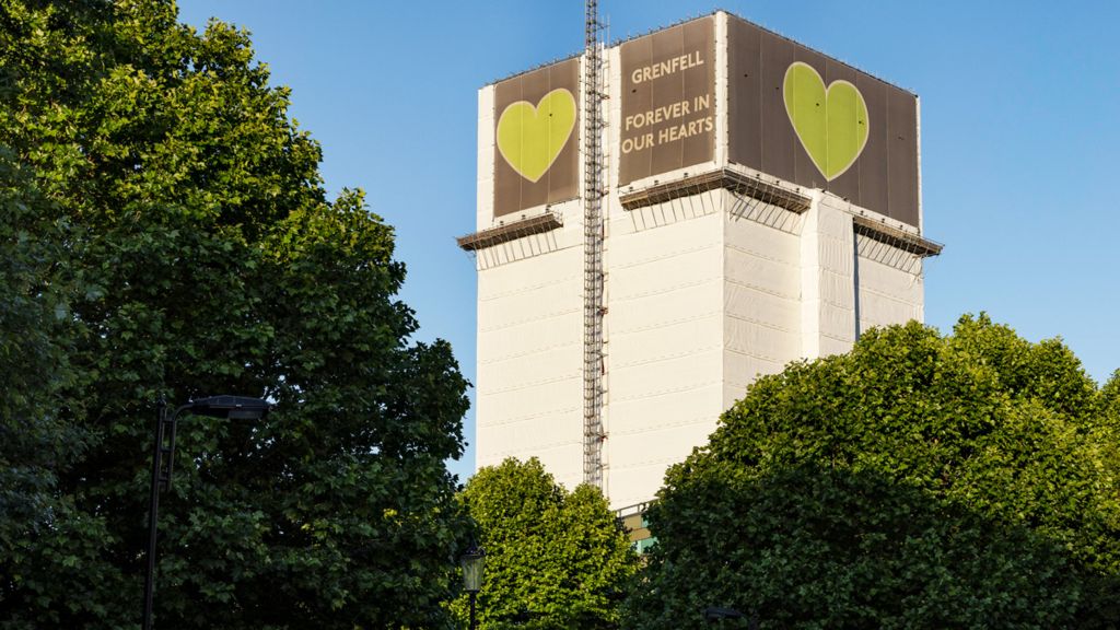
[[[170,417],[167,402],[160,398],[156,410],[156,447],[151,453],[151,504],[148,512],[148,572],[143,581],[143,630],[151,630],[151,603],[156,576],[156,520],[159,515],[159,488],[171,488],[171,465],[175,462],[175,429],[179,414],[214,418],[252,420],[269,413],[269,404],[248,396],[212,396],[180,406]],[[165,458],[166,456],[166,458]]]

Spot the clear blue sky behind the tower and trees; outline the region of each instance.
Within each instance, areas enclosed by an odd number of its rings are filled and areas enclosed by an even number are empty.
[[[584,43],[577,0],[179,0],[252,33],[332,195],[364,188],[396,228],[419,339],[475,373],[477,90]],[[987,311],[1061,336],[1099,382],[1120,368],[1120,2],[604,0],[612,39],[722,8],[922,99],[926,322]],[[474,413],[466,418],[474,442]],[[465,480],[474,450],[451,464]]]

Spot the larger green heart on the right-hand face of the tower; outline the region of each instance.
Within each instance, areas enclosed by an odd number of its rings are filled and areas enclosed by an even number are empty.
[[[867,145],[870,121],[859,90],[847,81],[824,80],[813,66],[794,62],[782,89],[785,113],[801,146],[829,182],[848,170]]]

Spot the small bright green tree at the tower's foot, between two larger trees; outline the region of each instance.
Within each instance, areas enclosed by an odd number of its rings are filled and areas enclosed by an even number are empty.
[[[535,457],[480,469],[463,501],[486,552],[479,628],[617,628],[637,557],[598,489],[571,492]],[[466,597],[452,606],[465,620]]]

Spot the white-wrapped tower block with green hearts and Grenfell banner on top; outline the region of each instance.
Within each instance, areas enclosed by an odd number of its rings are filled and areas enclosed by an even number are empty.
[[[478,465],[536,456],[617,509],[759,376],[922,321],[942,245],[915,94],[722,11],[595,46],[479,90],[458,242]]]

